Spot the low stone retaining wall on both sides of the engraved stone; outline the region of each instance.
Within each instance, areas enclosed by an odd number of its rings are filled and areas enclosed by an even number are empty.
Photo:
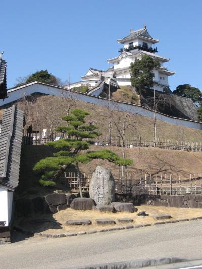
[[[84,193],[84,197],[89,197],[89,193]],[[32,199],[20,198],[15,201],[16,217],[31,216],[32,214],[56,213],[70,207],[70,203],[79,193],[74,194],[48,194],[45,197]],[[115,194],[117,202],[132,202],[134,205],[156,205],[178,208],[202,208],[202,195],[132,195]],[[1,227],[0,227],[1,228]],[[0,236],[1,237],[1,236]],[[1,239],[0,239],[1,240]]]

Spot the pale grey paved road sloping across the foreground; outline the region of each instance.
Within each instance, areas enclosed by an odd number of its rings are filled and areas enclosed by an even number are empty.
[[[70,268],[175,256],[202,258],[202,220],[0,246],[1,268]]]

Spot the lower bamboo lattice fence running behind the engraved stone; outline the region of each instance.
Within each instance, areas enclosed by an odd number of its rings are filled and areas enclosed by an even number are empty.
[[[81,173],[81,187],[89,191],[92,173]],[[116,193],[149,195],[202,195],[202,174],[131,174],[128,178],[114,176]],[[79,190],[77,174],[65,172],[61,183]]]

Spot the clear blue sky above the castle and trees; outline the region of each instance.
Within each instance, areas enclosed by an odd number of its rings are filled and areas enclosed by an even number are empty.
[[[107,69],[118,55],[117,39],[143,24],[160,39],[159,54],[176,71],[169,78],[200,88],[202,75],[201,0],[2,0],[0,51],[7,60],[7,84],[47,69],[63,81],[79,81],[89,67]]]

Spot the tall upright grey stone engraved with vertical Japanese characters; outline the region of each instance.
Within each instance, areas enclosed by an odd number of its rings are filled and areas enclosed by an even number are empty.
[[[97,205],[109,205],[114,201],[115,181],[109,169],[97,166],[90,181],[90,198]]]

